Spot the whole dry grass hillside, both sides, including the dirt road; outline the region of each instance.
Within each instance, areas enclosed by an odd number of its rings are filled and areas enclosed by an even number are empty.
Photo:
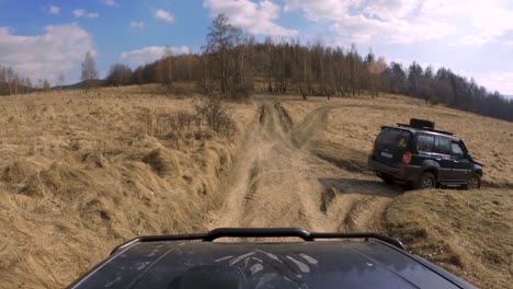
[[[513,282],[513,124],[396,95],[258,95],[229,104],[231,137],[170,125],[196,103],[138,86],[0,97],[0,287],[64,287],[137,234],[226,226],[377,231],[479,287]],[[380,126],[410,117],[464,138],[482,189],[368,173]]]

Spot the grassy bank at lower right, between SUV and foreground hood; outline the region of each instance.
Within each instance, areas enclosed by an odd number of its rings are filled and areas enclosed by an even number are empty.
[[[513,282],[512,189],[409,192],[385,215],[408,251],[480,288]]]

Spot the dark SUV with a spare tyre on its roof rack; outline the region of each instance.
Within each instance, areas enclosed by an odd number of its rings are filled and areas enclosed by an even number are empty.
[[[368,157],[368,167],[385,183],[418,189],[481,186],[482,164],[470,157],[465,142],[448,131],[434,129],[434,123],[424,119],[383,126]]]

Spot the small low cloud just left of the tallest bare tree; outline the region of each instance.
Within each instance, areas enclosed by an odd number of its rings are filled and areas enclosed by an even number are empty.
[[[181,54],[190,54],[191,48],[187,46],[181,47],[169,47],[169,46],[148,46],[142,47],[137,50],[125,51],[121,54],[121,59],[129,62],[134,66],[140,66],[145,63],[152,62],[157,59],[162,58],[164,55],[181,55]]]

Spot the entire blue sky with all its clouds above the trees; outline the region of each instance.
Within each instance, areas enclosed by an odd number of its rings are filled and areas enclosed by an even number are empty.
[[[135,68],[166,47],[197,53],[212,18],[262,39],[321,39],[388,61],[444,66],[513,95],[513,1],[509,0],[0,0],[0,65],[33,82],[78,81],[86,51],[101,77]]]

